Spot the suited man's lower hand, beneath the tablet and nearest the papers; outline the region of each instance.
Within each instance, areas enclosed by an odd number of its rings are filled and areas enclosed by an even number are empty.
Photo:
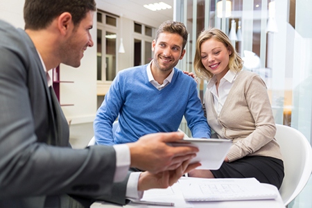
[[[137,185],[138,191],[146,191],[148,189],[166,189],[171,187],[179,178],[193,168],[200,166],[200,163],[189,164],[191,159],[182,163],[181,166],[173,171],[163,171],[157,174],[148,171],[141,173]]]

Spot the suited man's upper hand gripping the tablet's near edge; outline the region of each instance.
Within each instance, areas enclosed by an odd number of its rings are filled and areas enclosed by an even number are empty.
[[[155,133],[145,135],[134,143],[128,143],[131,164],[150,173],[177,169],[184,161],[196,156],[198,148],[193,146],[168,146],[167,143],[182,140],[182,132]]]

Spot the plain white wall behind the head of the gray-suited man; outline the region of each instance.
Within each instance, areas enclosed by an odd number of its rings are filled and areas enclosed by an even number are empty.
[[[0,19],[24,28],[23,7],[24,0],[1,0]],[[72,124],[92,122],[96,114],[96,18],[91,33],[95,39],[94,47],[85,51],[80,67],[60,66],[60,79],[74,82],[62,83],[60,86],[60,103],[73,104],[62,107]]]

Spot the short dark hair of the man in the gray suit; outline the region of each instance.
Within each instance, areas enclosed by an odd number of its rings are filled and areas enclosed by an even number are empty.
[[[25,29],[44,29],[63,12],[69,12],[73,25],[77,26],[90,10],[96,10],[94,0],[26,0],[24,4]]]

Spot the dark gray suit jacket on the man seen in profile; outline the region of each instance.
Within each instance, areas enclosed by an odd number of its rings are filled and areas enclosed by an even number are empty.
[[[55,199],[52,207],[67,207],[68,195],[124,203],[128,177],[113,184],[115,164],[112,147],[71,149],[33,42],[0,21],[0,207],[45,207]]]

